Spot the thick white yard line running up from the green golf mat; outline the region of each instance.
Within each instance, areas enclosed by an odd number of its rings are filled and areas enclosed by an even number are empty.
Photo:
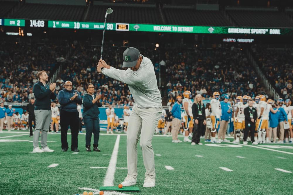
[[[115,141],[114,149],[112,152],[112,156],[110,158],[110,163],[109,163],[108,170],[104,180],[104,186],[113,186],[113,180],[114,180],[117,157],[118,157],[119,141],[120,141],[120,135],[117,136]]]

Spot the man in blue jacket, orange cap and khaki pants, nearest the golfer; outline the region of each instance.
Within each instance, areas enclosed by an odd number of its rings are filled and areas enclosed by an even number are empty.
[[[173,108],[171,110],[172,113],[172,142],[173,143],[181,143],[182,141],[178,139],[178,131],[181,125],[181,109],[182,109],[182,97],[177,96],[177,101],[174,103]]]

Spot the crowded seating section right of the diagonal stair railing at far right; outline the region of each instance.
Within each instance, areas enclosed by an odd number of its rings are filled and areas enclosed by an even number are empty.
[[[255,60],[283,98],[292,98],[292,49],[254,47]]]

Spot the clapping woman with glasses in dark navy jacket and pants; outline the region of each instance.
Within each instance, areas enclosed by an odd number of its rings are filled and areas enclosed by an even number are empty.
[[[94,86],[89,83],[87,85],[88,93],[84,95],[84,125],[86,126],[86,151],[91,151],[91,136],[93,134],[93,151],[100,152],[98,149],[98,142],[100,137],[100,119],[99,119],[99,107],[102,106],[100,103],[101,94],[93,94]]]

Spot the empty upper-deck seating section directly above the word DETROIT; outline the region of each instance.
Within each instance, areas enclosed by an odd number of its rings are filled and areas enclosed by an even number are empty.
[[[167,24],[229,26],[229,21],[219,11],[198,11],[184,8],[163,8]]]

